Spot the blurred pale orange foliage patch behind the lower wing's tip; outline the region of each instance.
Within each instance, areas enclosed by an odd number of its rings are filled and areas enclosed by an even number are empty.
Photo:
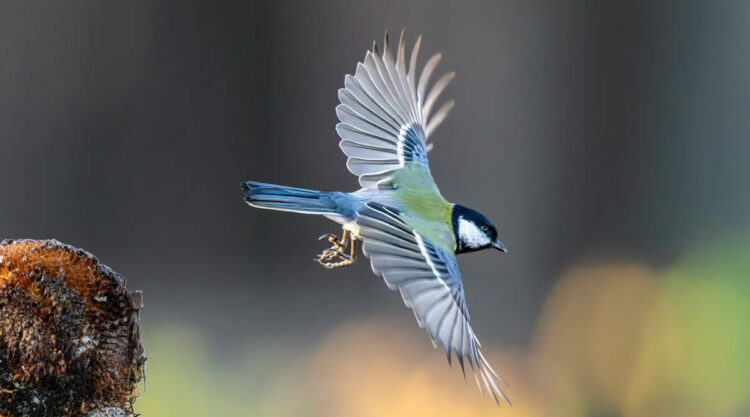
[[[354,322],[329,335],[313,358],[310,389],[315,413],[331,417],[538,416],[522,390],[510,387],[519,405],[498,408],[479,395],[470,370],[446,366],[442,351],[430,351],[425,334],[380,320]],[[505,378],[521,381],[523,369],[510,354],[487,355]],[[521,361],[524,357],[518,358]],[[507,366],[506,366],[507,365]],[[519,387],[523,385],[519,384]]]

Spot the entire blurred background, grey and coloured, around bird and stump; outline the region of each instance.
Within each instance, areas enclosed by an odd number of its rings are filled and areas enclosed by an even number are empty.
[[[510,255],[459,262],[514,407],[482,399],[337,225],[242,180],[354,190],[344,75],[443,52],[436,181]],[[144,416],[750,415],[750,3],[3,2],[0,238],[144,291]]]

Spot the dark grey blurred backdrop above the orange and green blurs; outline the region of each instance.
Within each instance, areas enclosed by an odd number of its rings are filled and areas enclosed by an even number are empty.
[[[748,22],[746,2],[4,2],[0,237],[86,248],[145,291],[145,326],[223,346],[411,322],[366,262],[311,262],[333,223],[238,187],[355,189],[336,90],[404,27],[457,71],[436,180],[510,248],[460,259],[477,333],[525,344],[576,260],[660,265],[750,225]]]

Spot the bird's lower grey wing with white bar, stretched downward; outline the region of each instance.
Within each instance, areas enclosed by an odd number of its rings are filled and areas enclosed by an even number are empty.
[[[480,378],[495,402],[500,395],[510,404],[497,384],[505,381],[482,355],[469,324],[455,256],[425,241],[391,207],[371,202],[358,215],[362,250],[370,258],[372,270],[385,279],[389,288],[401,292],[404,303],[414,310],[417,323],[427,329],[435,347],[442,345],[449,363],[453,351],[465,372],[466,358],[482,394]]]

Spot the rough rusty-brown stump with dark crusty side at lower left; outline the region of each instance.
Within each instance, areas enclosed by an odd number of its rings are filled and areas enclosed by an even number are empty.
[[[86,251],[0,243],[0,416],[132,414],[141,300]]]

